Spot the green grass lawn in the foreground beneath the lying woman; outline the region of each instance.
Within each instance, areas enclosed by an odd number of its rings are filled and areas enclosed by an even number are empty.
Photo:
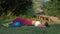
[[[60,34],[60,24],[50,25],[48,28],[34,26],[3,27],[0,26],[0,34]]]

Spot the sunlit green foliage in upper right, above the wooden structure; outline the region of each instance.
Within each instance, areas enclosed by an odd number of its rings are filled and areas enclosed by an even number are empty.
[[[47,11],[47,15],[60,17],[60,0],[51,0],[45,3],[44,9]]]

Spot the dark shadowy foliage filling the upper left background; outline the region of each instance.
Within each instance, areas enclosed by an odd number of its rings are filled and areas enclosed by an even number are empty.
[[[32,0],[0,0],[0,16],[1,15],[24,15],[26,12],[31,13]],[[30,11],[27,11],[31,9]],[[33,11],[32,11],[33,12]]]

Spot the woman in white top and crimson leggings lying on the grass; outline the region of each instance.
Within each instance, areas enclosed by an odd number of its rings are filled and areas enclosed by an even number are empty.
[[[46,21],[40,22],[40,21],[33,21],[33,20],[24,19],[24,18],[16,18],[13,21],[11,21],[9,24],[15,21],[19,21],[25,26],[30,26],[30,25],[34,25],[36,27],[47,27],[48,26],[48,23]]]

